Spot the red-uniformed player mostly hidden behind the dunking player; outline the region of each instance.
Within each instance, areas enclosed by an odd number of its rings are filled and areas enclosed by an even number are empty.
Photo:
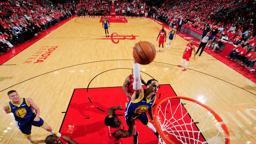
[[[141,82],[146,85],[146,82],[142,79],[141,75],[140,75],[140,79],[141,79]],[[133,90],[133,69],[132,69],[132,74],[129,75],[125,81],[124,81],[124,84],[123,84],[123,90],[127,96],[127,100],[129,101],[132,97],[132,94],[134,93],[134,90]]]

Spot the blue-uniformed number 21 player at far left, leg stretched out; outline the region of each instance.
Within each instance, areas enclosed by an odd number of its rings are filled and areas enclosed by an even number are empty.
[[[31,139],[32,125],[42,127],[58,137],[61,136],[60,133],[53,131],[52,128],[39,117],[40,109],[32,99],[20,98],[15,90],[9,91],[7,95],[11,101],[4,104],[4,111],[7,114],[13,113],[18,129],[29,140],[30,144],[35,144],[35,141]],[[34,110],[36,113],[34,113]]]

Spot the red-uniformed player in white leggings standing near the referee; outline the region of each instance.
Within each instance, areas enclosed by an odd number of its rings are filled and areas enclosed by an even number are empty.
[[[195,46],[193,45],[193,39],[191,39],[189,41],[189,43],[187,44],[184,52],[183,52],[183,57],[181,58],[181,64],[177,65],[178,67],[182,67],[182,64],[184,62],[184,59],[186,59],[186,67],[182,70],[182,71],[186,71],[187,70],[187,66],[188,66],[188,61],[191,58],[192,55],[192,50],[194,50],[194,60],[196,57],[196,51],[195,51]]]

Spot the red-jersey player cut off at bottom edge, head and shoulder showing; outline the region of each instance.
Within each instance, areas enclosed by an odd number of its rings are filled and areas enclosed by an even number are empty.
[[[46,144],[78,144],[74,140],[72,140],[69,136],[61,136],[57,137],[54,135],[48,135],[45,138],[45,143]]]

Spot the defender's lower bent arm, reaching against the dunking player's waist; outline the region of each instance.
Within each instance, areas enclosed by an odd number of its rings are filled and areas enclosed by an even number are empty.
[[[133,128],[134,128],[134,121],[138,118],[138,116],[134,117],[132,116],[131,118],[131,126],[129,127],[128,131],[126,130],[119,130],[117,132],[115,132],[115,134],[113,135],[113,137],[120,139],[120,138],[126,138],[126,137],[131,137],[132,136],[132,132],[133,132]]]

